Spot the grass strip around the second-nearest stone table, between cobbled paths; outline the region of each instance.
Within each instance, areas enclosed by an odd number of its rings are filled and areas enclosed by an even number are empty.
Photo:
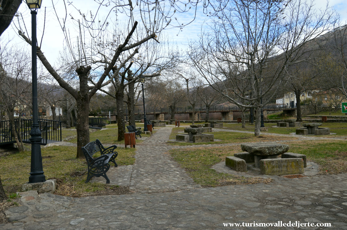
[[[241,126],[240,126],[241,127]],[[170,139],[176,139],[176,135],[179,132],[184,131],[184,127],[176,127],[172,129]],[[254,137],[254,134],[240,133],[240,132],[206,132],[206,134],[213,134],[214,139],[221,141],[203,142],[203,143],[188,143],[171,141],[169,145],[208,145],[208,144],[225,144],[225,143],[242,143],[242,142],[258,142],[258,141],[276,141],[276,140],[295,140],[297,137],[278,137],[271,135],[261,135],[260,137]]]

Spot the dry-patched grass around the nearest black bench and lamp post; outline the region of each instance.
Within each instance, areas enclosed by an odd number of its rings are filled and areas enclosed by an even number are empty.
[[[119,166],[135,162],[135,149],[118,149],[116,162]],[[118,186],[101,183],[87,183],[87,165],[84,158],[76,159],[76,147],[52,146],[41,149],[44,175],[47,179],[58,180],[59,187],[55,194],[66,196],[86,196],[110,191]],[[20,190],[28,182],[31,152],[25,151],[1,157],[1,181],[7,194]],[[114,167],[111,163],[111,167]]]

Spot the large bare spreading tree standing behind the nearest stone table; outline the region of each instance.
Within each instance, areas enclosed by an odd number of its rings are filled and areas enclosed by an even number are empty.
[[[255,136],[260,135],[260,111],[285,82],[286,68],[305,61],[304,46],[332,26],[329,9],[312,5],[233,0],[214,17],[210,32],[190,45],[193,65],[213,89],[232,103],[256,109]],[[240,74],[247,76],[251,98],[237,88]]]

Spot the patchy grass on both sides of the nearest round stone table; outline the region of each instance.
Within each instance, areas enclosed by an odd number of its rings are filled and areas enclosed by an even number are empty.
[[[305,154],[307,160],[318,163],[320,173],[346,173],[347,149],[346,141],[293,141],[286,143],[289,151]],[[225,185],[264,182],[260,178],[244,178],[224,173],[218,173],[210,167],[225,160],[226,156],[242,152],[241,147],[213,147],[172,149],[169,154],[186,170],[194,181],[202,185]]]

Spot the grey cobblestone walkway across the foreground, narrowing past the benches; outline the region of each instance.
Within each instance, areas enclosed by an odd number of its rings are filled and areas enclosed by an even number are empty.
[[[347,229],[347,174],[294,180],[273,177],[269,184],[201,188],[165,154],[171,148],[186,147],[167,146],[170,132],[170,127],[158,129],[137,145],[133,166],[109,170],[111,183],[120,178],[118,184],[129,185],[133,194],[72,198],[25,192],[22,206],[7,211],[13,222],[0,229]],[[333,227],[223,224],[278,221],[331,223]]]

